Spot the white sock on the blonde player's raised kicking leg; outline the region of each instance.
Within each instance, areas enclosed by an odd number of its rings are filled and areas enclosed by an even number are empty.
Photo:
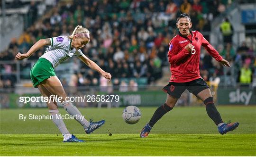
[[[69,115],[71,115],[71,116],[79,116],[79,117],[82,117],[82,114],[81,114],[81,112],[77,109],[77,107],[75,107],[74,105],[73,105],[73,103],[72,102],[66,102],[66,101],[64,101],[64,102],[62,102],[61,103],[61,105],[65,108],[65,110],[67,111],[67,113],[69,114]],[[90,126],[90,122],[89,121],[87,121],[85,118],[77,118],[76,119],[76,121],[77,122],[79,122],[82,126],[83,126],[83,128],[85,129],[85,130],[87,130],[88,129],[88,127]]]

